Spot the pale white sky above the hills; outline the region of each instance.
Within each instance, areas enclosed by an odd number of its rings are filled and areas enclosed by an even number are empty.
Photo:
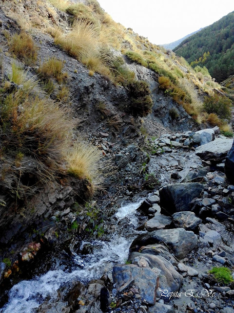
[[[114,21],[156,45],[174,42],[234,11],[234,0],[98,0]]]

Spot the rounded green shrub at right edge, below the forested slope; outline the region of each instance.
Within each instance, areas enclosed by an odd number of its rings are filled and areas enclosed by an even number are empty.
[[[215,113],[219,118],[231,120],[232,117],[232,101],[222,95],[205,96],[204,109],[207,113]]]

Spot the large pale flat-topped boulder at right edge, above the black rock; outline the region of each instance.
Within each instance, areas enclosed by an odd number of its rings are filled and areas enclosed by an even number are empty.
[[[229,150],[232,148],[233,139],[215,139],[195,150],[195,154],[204,161],[219,162],[225,159]]]

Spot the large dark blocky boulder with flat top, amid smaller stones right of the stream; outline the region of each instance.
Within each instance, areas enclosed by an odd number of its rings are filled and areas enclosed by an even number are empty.
[[[197,182],[170,184],[159,190],[160,206],[163,213],[172,214],[189,211],[189,203],[199,197],[203,185]]]

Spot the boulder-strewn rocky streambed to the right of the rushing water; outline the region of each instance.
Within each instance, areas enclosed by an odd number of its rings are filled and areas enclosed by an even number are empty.
[[[208,272],[214,266],[234,267],[234,185],[224,174],[232,143],[217,128],[149,141],[155,155],[149,173],[160,156],[163,162],[155,171],[166,185],[136,207],[138,227],[129,227],[128,219],[115,226],[114,218],[106,221],[112,231],[130,229],[131,238],[136,233],[128,261],[87,286],[75,277],[62,283],[56,299],[42,301],[33,312],[233,312],[234,283],[219,283]]]

